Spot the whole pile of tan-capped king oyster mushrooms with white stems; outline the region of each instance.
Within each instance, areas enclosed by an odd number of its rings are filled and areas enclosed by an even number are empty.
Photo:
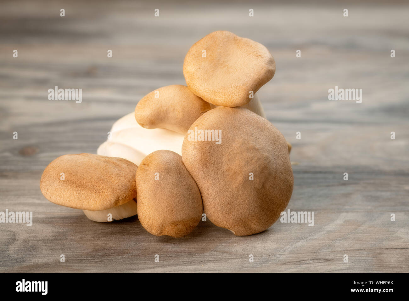
[[[265,119],[256,94],[275,69],[260,43],[208,34],[184,59],[187,86],[145,95],[97,154],[52,161],[43,195],[97,222],[137,214],[157,236],[182,237],[205,218],[239,236],[266,230],[294,183],[291,145]]]

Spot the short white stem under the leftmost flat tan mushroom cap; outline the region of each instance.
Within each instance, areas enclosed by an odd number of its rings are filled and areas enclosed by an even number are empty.
[[[135,199],[128,201],[125,204],[106,209],[106,210],[83,210],[84,214],[95,222],[110,222],[112,220],[122,220],[133,215],[137,215],[137,202]],[[111,214],[110,216],[108,216]],[[112,217],[112,219],[110,219]]]

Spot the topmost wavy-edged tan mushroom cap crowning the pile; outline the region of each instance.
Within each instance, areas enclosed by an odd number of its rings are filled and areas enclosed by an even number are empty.
[[[206,57],[202,57],[206,50]],[[216,106],[247,104],[272,79],[276,64],[265,46],[228,31],[208,34],[187,52],[183,74],[189,89]]]

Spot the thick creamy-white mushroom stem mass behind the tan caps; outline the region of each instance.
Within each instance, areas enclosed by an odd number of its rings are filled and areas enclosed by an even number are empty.
[[[169,129],[145,129],[129,113],[112,125],[110,138],[102,143],[97,154],[125,158],[139,165],[146,155],[159,149],[181,154],[184,135]]]

